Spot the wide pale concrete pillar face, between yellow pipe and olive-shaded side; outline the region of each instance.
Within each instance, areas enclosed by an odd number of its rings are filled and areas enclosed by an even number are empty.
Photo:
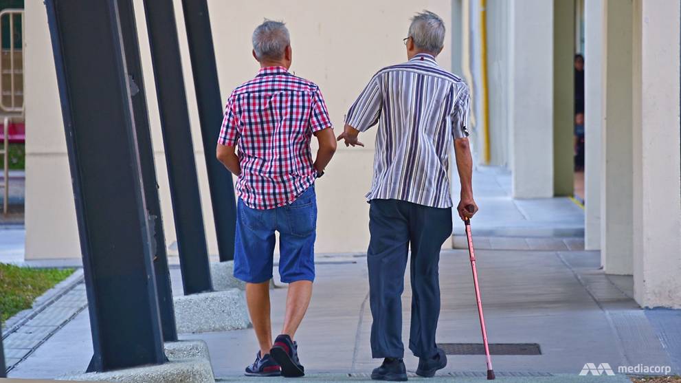
[[[509,10],[513,197],[552,197],[553,2],[513,0]]]

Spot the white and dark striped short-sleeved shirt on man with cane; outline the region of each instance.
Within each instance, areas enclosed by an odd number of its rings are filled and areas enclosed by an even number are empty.
[[[429,54],[381,69],[350,107],[346,124],[379,122],[371,199],[449,208],[449,153],[467,137],[469,90]]]

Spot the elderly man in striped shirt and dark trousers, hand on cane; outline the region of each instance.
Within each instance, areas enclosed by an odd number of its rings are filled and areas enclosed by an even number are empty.
[[[466,83],[438,66],[445,25],[436,14],[412,19],[404,39],[409,61],[381,69],[346,116],[338,140],[364,146],[359,132],[379,122],[370,203],[367,254],[371,350],[385,358],[375,380],[407,380],[402,360],[401,295],[408,250],[412,256],[412,322],[409,348],[419,358],[416,373],[432,377],[447,365],[435,333],[440,313],[438,262],[451,235],[448,155],[452,143],[461,182],[457,210],[461,219],[477,211],[471,186],[468,142],[469,90]],[[469,212],[467,206],[473,206]]]

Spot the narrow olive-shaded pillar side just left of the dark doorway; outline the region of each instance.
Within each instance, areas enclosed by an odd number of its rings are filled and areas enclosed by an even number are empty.
[[[574,0],[553,1],[553,193],[574,191]]]

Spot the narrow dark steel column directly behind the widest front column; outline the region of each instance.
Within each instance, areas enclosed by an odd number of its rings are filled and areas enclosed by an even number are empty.
[[[146,97],[144,96],[144,77],[142,76],[142,64],[139,59],[137,25],[135,23],[135,10],[132,0],[118,0],[118,14],[120,16],[128,78],[131,84],[137,149],[139,150],[139,164],[142,168],[142,191],[146,200],[147,216],[149,217],[149,228],[152,237],[151,250],[156,274],[161,329],[163,330],[164,341],[175,342],[177,340],[177,327],[175,326],[175,309],[172,304],[166,237],[163,230],[163,221],[161,220],[161,203],[159,202],[156,168],[154,166],[154,150],[149,130],[149,112],[146,107]]]

